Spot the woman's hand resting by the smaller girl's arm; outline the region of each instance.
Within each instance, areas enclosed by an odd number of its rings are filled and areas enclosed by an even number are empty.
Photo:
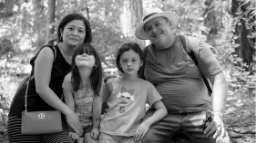
[[[78,119],[78,116],[73,111],[70,111],[66,115],[67,124],[78,134],[78,136],[82,135],[83,128],[81,126],[81,123]]]

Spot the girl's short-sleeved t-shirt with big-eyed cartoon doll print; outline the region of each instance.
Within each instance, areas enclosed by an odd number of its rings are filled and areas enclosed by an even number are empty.
[[[150,106],[162,97],[148,81],[110,79],[103,87],[102,99],[108,103],[108,112],[100,123],[100,132],[115,136],[134,136],[140,120]]]

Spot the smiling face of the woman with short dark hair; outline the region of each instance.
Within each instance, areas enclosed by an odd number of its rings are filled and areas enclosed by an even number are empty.
[[[86,26],[82,20],[73,20],[61,30],[63,43],[71,46],[78,46],[84,43],[86,38]]]

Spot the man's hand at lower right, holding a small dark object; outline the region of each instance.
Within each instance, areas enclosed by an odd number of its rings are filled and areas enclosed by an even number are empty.
[[[204,134],[206,134],[207,137],[209,137],[214,132],[215,134],[213,135],[213,138],[218,138],[219,136],[224,138],[226,136],[224,122],[219,112],[214,112],[213,119],[210,121],[210,124],[207,126],[207,128],[204,129]]]

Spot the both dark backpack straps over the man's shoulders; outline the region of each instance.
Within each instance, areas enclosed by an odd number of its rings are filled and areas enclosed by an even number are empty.
[[[189,42],[188,42],[189,44],[186,43],[186,37],[184,35],[179,34],[179,37],[180,37],[180,41],[181,41],[183,47],[185,48],[185,51],[188,53],[191,60],[193,62],[195,62],[195,64],[199,67],[199,63],[198,63],[197,58],[195,57],[194,52],[193,52],[192,47],[191,47],[192,45]],[[140,77],[144,80],[145,80],[144,69],[145,69],[145,64],[146,64],[146,57],[147,57],[148,47],[149,47],[149,45],[147,47],[145,47],[145,49],[143,50],[143,55],[144,55],[143,62],[144,63],[143,63],[142,70],[141,70],[142,72],[139,73]],[[211,87],[210,87],[210,83],[206,79],[206,77],[203,75],[202,72],[201,72],[201,75],[202,75],[202,79],[203,79],[203,81],[204,81],[204,83],[207,87],[208,94],[209,94],[209,96],[211,96],[212,90],[211,90]]]

